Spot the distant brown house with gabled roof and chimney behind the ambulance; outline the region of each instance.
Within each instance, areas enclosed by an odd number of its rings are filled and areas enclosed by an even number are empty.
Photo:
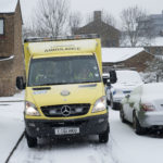
[[[93,21],[89,24],[74,29],[75,35],[98,34],[101,37],[102,47],[118,47],[120,30],[104,23],[101,18],[101,11],[95,11]]]

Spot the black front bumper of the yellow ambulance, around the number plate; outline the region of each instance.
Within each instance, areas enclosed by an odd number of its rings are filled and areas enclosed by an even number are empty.
[[[60,127],[78,127],[78,136],[98,135],[106,130],[108,124],[108,114],[66,121],[25,120],[27,134],[39,138],[72,136],[55,135],[54,129]]]

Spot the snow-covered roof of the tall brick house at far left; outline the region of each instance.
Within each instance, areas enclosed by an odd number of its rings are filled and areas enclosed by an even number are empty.
[[[15,12],[17,0],[0,0],[0,13]]]

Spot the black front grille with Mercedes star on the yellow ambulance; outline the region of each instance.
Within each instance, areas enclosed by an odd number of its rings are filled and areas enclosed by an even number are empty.
[[[48,105],[41,106],[40,109],[48,117],[65,117],[87,114],[90,109],[90,104]]]

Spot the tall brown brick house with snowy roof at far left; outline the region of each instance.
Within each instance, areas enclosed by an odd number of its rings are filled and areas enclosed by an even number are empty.
[[[0,96],[13,96],[16,76],[24,76],[22,13],[18,0],[0,1]]]

